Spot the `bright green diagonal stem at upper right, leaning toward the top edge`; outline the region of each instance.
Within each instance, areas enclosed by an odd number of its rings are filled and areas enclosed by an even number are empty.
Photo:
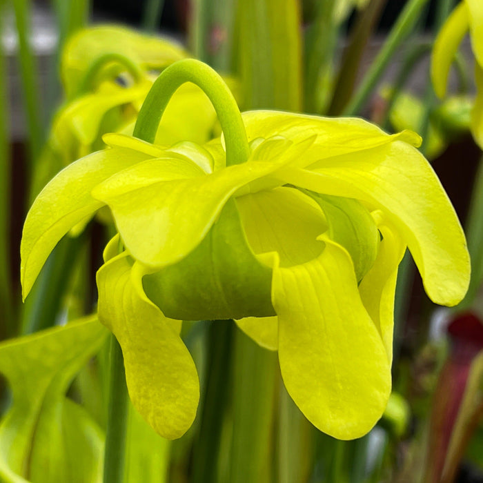
[[[393,30],[388,35],[384,46],[382,46],[373,64],[366,73],[359,89],[344,109],[344,115],[353,116],[359,114],[386,69],[386,66],[393,59],[395,51],[402,41],[406,39],[408,34],[411,33],[415,24],[420,19],[421,12],[426,6],[426,3],[428,3],[428,0],[410,0],[406,3],[404,10],[397,19]]]

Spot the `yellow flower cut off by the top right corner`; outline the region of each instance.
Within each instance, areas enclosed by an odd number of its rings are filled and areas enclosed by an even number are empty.
[[[461,1],[451,12],[437,35],[431,58],[431,79],[438,97],[444,97],[451,64],[458,47],[469,31],[475,54],[477,95],[471,115],[471,131],[483,147],[483,3],[479,0]]]

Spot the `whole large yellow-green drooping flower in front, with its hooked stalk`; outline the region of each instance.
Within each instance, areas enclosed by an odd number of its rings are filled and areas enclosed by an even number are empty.
[[[172,92],[197,83],[224,136],[152,144]],[[391,393],[397,266],[411,250],[429,297],[454,305],[469,283],[462,228],[420,137],[362,119],[240,115],[203,63],[167,68],[135,136],[75,161],[26,219],[26,297],[68,230],[108,206],[118,234],[97,273],[99,319],[124,353],[132,402],[158,433],[182,435],[199,399],[181,320],[236,319],[278,351],[288,393],[317,428],[367,433]],[[255,403],[256,404],[256,403]]]

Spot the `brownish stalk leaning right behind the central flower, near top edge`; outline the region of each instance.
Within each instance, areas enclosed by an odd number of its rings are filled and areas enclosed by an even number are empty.
[[[331,106],[328,108],[329,115],[339,115],[351,99],[362,54],[385,4],[386,0],[371,0],[364,11],[358,15],[334,82],[335,89]]]

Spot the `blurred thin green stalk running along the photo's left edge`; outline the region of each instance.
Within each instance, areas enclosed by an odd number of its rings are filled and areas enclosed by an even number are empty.
[[[3,4],[0,4],[0,33],[3,32]],[[8,86],[6,57],[0,45],[0,318],[5,321],[1,337],[14,333],[12,282],[10,278],[10,146],[8,143]]]

